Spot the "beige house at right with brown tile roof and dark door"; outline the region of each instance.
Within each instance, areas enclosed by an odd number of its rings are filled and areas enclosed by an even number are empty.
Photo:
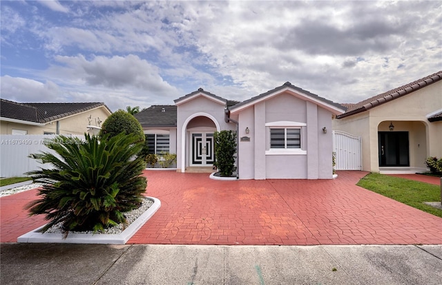
[[[333,129],[362,138],[362,170],[425,171],[428,156],[442,156],[442,71],[356,104]]]

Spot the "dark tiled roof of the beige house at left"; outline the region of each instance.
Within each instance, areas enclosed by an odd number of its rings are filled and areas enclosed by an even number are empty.
[[[45,124],[102,106],[112,114],[104,103],[17,103],[1,99],[0,117]]]

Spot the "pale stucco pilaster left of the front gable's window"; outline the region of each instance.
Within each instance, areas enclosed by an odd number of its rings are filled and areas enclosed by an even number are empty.
[[[255,105],[255,179],[265,179],[265,102]]]

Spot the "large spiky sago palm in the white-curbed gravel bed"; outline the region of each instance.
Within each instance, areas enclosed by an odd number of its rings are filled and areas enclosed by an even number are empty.
[[[28,204],[30,215],[46,215],[48,224],[62,223],[64,231],[101,231],[126,222],[124,212],[140,207],[146,191],[141,176],[145,162],[133,159],[142,143],[133,135],[112,138],[85,134],[86,140],[58,136],[47,145],[48,152],[31,154],[52,168],[31,171],[36,182],[44,183],[40,198]]]

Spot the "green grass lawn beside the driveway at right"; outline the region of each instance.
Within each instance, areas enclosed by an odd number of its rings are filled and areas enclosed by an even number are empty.
[[[437,185],[378,173],[369,173],[357,185],[442,218],[442,210],[423,204],[441,201]]]

